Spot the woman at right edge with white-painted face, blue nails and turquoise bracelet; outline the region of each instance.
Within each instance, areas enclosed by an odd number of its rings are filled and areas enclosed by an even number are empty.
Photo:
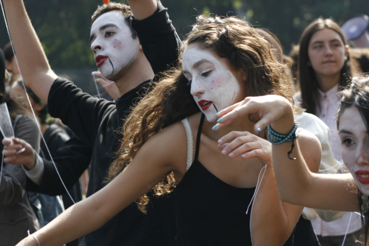
[[[282,149],[291,142],[273,145],[273,164],[282,200],[309,208],[360,211],[366,226],[360,238],[368,244],[369,222],[369,77],[354,77],[352,84],[341,93],[337,128],[341,142],[342,160],[350,173],[316,174],[310,172],[294,148],[296,160],[285,161]],[[288,132],[294,124],[290,104],[282,97],[246,98],[243,102],[221,111],[221,122],[232,122],[240,115],[263,115],[255,128],[270,125],[277,132]],[[218,124],[218,129],[224,125]],[[237,151],[237,147],[231,151]],[[240,152],[242,153],[242,152]],[[324,188],[324,189],[322,189]],[[358,239],[358,238],[357,238]]]

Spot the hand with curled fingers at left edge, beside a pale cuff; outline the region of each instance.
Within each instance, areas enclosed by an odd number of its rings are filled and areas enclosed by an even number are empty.
[[[36,154],[28,142],[20,138],[4,138],[3,151],[4,162],[13,165],[24,165],[28,170],[32,170],[36,165]]]

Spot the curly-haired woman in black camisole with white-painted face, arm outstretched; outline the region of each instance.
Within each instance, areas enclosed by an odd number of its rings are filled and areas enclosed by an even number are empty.
[[[18,245],[61,244],[98,228],[136,199],[145,212],[148,192],[174,189],[176,245],[282,245],[302,207],[279,199],[271,144],[266,132],[254,131],[262,115],[213,130],[216,114],[246,96],[275,94],[290,104],[291,85],[273,55],[267,40],[243,20],[199,16],[183,46],[182,66],[126,119],[111,182]],[[247,140],[242,158],[219,150],[218,139],[229,132],[233,143]],[[306,147],[302,155],[316,172],[318,140],[301,130],[295,143]]]

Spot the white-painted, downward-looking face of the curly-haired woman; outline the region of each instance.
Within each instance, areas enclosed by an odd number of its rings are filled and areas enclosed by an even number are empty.
[[[237,78],[226,59],[215,52],[190,44],[183,52],[182,67],[191,94],[209,122],[216,120],[217,112],[242,99],[238,98],[242,93]]]

